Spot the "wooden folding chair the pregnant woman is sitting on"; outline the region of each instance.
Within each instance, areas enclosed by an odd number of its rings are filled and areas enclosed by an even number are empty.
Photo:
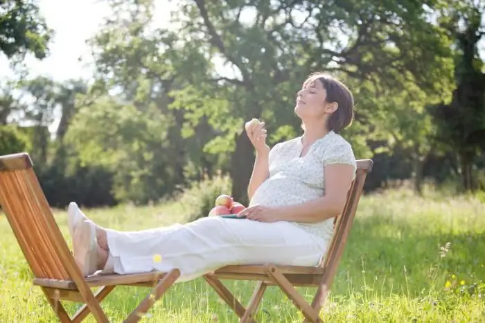
[[[362,194],[367,173],[371,172],[373,161],[357,161],[357,173],[353,181],[344,211],[336,218],[332,241],[323,261],[317,267],[281,265],[229,265],[204,275],[204,279],[240,317],[240,322],[256,322],[253,318],[267,286],[279,286],[283,293],[299,308],[306,318],[304,322],[322,322],[319,311],[324,305],[328,290],[333,282],[337,266],[344,251],[347,236]],[[257,281],[254,293],[245,308],[224,286],[221,279]],[[295,286],[317,287],[312,304],[294,288]]]

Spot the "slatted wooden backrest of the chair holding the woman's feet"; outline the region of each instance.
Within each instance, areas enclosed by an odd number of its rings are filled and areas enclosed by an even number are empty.
[[[0,156],[0,206],[36,278],[83,280],[25,152]]]

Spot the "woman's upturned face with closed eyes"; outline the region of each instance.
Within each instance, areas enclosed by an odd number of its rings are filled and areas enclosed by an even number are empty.
[[[327,106],[326,89],[317,78],[312,78],[303,83],[298,92],[294,112],[303,121],[321,119],[326,114]]]

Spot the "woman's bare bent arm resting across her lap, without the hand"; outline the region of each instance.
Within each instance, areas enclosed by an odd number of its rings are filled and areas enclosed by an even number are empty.
[[[321,222],[342,213],[353,180],[354,168],[348,164],[325,167],[325,195],[321,198],[278,208],[279,221]]]

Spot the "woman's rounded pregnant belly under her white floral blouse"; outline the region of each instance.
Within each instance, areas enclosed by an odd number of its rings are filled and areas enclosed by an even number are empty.
[[[251,205],[284,207],[314,200],[323,195],[321,189],[311,187],[292,177],[271,177],[261,186],[249,202]]]

